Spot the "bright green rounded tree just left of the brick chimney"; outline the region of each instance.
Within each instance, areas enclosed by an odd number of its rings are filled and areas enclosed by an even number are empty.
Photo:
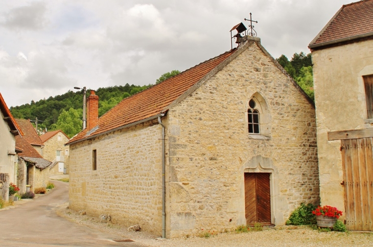
[[[62,110],[58,116],[57,123],[51,125],[52,130],[61,129],[69,138],[82,130],[82,109],[69,108],[68,111]]]

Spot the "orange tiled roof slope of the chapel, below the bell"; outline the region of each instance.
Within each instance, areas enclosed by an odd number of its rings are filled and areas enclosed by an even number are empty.
[[[154,117],[164,111],[174,100],[195,85],[203,76],[227,59],[236,49],[200,63],[162,83],[123,99],[118,105],[99,118],[99,128],[91,136]],[[84,139],[87,129],[66,144]]]

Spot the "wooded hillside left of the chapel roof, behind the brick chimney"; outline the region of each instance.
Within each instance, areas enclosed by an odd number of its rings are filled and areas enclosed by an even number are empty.
[[[99,116],[103,115],[122,99],[149,88],[148,86],[114,86],[95,90],[100,97]],[[87,97],[89,89],[87,89]],[[65,94],[42,99],[30,104],[10,107],[15,118],[38,119],[38,130],[62,129],[69,137],[78,133],[82,128],[83,116],[83,90],[68,91]]]

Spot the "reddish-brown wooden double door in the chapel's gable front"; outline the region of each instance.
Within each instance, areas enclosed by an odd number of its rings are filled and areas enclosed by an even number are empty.
[[[271,225],[270,173],[245,173],[246,224]]]

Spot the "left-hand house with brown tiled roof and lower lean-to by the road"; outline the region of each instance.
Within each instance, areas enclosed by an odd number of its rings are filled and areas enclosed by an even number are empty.
[[[18,154],[17,175],[19,193],[22,194],[27,191],[27,187],[30,191],[34,191],[35,188],[45,188],[48,185],[48,168],[52,162],[41,156],[43,142],[30,120],[16,119],[16,122],[24,133],[22,137],[16,136],[15,138],[16,146],[22,149],[22,153]]]

